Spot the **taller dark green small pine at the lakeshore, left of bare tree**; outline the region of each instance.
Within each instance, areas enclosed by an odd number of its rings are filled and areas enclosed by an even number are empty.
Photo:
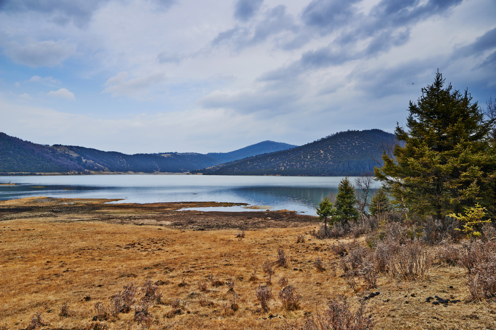
[[[355,207],[356,204],[357,195],[355,194],[355,187],[350,183],[348,177],[345,177],[338,186],[338,194],[334,203],[336,212],[333,222],[340,221],[344,225],[350,220],[357,220],[359,214]]]

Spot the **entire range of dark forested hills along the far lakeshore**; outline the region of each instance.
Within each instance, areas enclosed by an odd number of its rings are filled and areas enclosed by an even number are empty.
[[[127,155],[73,145],[52,146],[0,133],[0,174],[202,173],[213,175],[341,176],[371,173],[394,135],[340,132],[296,146],[263,141],[231,152]]]

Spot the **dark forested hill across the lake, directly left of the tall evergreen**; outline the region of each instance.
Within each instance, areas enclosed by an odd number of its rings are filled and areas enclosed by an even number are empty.
[[[193,171],[213,175],[343,176],[372,173],[395,136],[381,130],[347,131],[288,150]]]

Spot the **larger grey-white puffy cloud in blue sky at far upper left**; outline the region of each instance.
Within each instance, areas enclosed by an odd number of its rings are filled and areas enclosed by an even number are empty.
[[[4,52],[14,62],[30,67],[60,65],[69,56],[76,53],[76,44],[67,41],[34,41],[25,45],[16,41],[4,43]]]

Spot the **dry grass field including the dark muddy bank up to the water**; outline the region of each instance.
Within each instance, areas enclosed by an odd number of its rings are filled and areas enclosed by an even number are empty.
[[[248,212],[218,214],[219,224],[177,205],[105,201],[0,202],[0,329],[301,329],[330,299],[344,295],[356,310],[371,292],[380,292],[366,301],[374,329],[496,329],[496,304],[470,301],[458,266],[435,263],[423,280],[382,275],[372,290],[352,289],[333,252],[351,238],[308,235],[315,218]],[[257,290],[270,268],[264,311]],[[296,306],[283,305],[287,284]],[[459,301],[426,301],[435,295]]]

